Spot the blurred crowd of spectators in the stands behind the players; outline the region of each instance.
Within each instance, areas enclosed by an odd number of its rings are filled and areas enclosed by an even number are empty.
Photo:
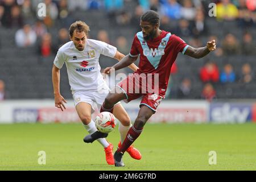
[[[38,16],[40,2],[46,5],[46,17]],[[127,7],[132,2],[135,2],[136,6],[131,10]],[[236,22],[237,28],[242,30],[241,37],[227,32],[224,39],[220,40],[218,36],[210,34],[205,22],[209,18],[208,5],[211,2],[217,5],[217,16],[214,20]],[[59,47],[69,41],[68,27],[76,20],[73,18],[76,11],[105,11],[107,16],[102,17],[102,20],[109,18],[115,28],[130,27],[140,31],[140,16],[150,9],[160,14],[161,29],[180,36],[193,47],[205,45],[202,37],[207,37],[208,40],[216,39],[217,50],[214,52],[216,57],[255,55],[256,53],[255,39],[253,40],[251,31],[247,31],[256,30],[256,0],[0,0],[0,28],[6,28],[6,31],[16,30],[14,37],[16,47],[36,48],[38,56],[48,57],[55,55]],[[56,24],[59,30],[58,35],[52,35],[50,30],[56,28]],[[130,38],[118,36],[110,39],[109,31],[104,30],[104,27],[93,31],[98,31],[97,37],[91,38],[113,44],[125,55],[129,53],[131,45],[128,39]],[[174,74],[176,66],[174,65],[172,71]],[[200,97],[208,100],[216,97],[215,82],[247,83],[255,80],[249,63],[243,64],[238,75],[233,69],[232,63],[226,63],[223,68],[220,68],[216,61],[207,61],[199,72],[199,78],[205,84]],[[0,85],[0,89],[4,88],[1,81]],[[188,77],[180,81],[177,98],[189,98],[192,92],[191,85],[192,81]],[[0,100],[3,99],[2,95],[1,92]]]

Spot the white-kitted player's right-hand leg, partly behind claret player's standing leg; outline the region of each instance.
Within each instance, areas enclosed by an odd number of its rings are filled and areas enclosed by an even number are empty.
[[[114,105],[114,111],[113,114],[115,118],[117,118],[119,122],[118,130],[120,134],[121,141],[118,143],[118,147],[121,147],[121,144],[123,143],[123,140],[125,140],[127,132],[129,131],[131,125],[131,119],[126,112],[125,108],[121,104]],[[141,153],[135,148],[134,146],[130,146],[126,150],[128,154],[133,159],[140,160],[141,159]]]

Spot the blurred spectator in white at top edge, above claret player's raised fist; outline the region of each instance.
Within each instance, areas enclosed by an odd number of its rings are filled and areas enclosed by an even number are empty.
[[[183,7],[181,7],[181,17],[187,20],[193,20],[196,16],[196,9],[193,7],[191,0],[183,0]]]

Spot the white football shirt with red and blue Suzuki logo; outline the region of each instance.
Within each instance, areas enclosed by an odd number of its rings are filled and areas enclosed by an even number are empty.
[[[59,69],[66,64],[72,91],[97,90],[106,84],[98,59],[101,54],[114,57],[116,52],[116,47],[93,39],[86,39],[84,50],[79,51],[71,41],[59,48],[53,64]]]

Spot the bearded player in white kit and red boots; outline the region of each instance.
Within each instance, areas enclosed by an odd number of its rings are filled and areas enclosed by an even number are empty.
[[[114,46],[105,42],[87,39],[88,31],[89,26],[85,22],[77,21],[71,24],[71,27],[69,27],[71,42],[64,44],[57,52],[52,68],[55,106],[63,111],[65,109],[64,103],[67,103],[60,94],[60,69],[65,63],[77,114],[89,133],[101,135],[97,136],[97,140],[104,147],[106,162],[113,165],[113,144],[105,139],[108,134],[96,132],[97,129],[91,118],[91,114],[95,109],[95,105],[97,105],[100,110],[100,106],[103,104],[105,97],[110,91],[100,73],[101,67],[98,61],[100,55],[113,57],[118,61],[125,55],[117,51],[117,48]],[[135,64],[131,64],[130,68],[136,71],[138,67]],[[121,141],[118,146],[121,146],[127,131],[131,127],[131,121],[121,103],[114,106],[113,114],[120,121],[118,130]],[[88,143],[88,141],[85,142]],[[128,148],[127,152],[132,158],[137,160],[141,159],[140,152],[133,146]]]

